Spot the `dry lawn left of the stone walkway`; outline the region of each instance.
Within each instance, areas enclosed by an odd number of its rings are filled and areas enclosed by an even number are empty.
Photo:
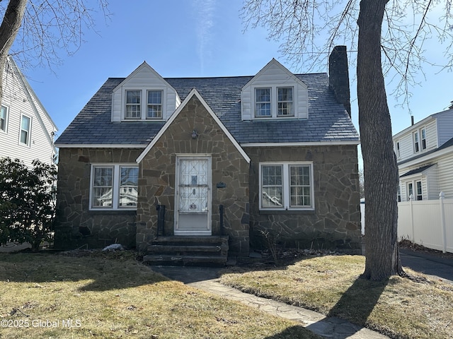
[[[319,338],[167,280],[133,252],[0,254],[0,284],[0,338]]]

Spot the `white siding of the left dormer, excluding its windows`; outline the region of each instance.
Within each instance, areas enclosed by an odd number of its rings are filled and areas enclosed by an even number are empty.
[[[125,81],[113,90],[112,121],[123,121],[125,111],[125,91],[142,91],[142,117],[146,110],[147,90],[162,90],[162,120],[166,121],[180,105],[180,98],[176,90],[164,78],[159,76],[154,69],[144,63],[128,76]],[[154,120],[153,120],[154,121]]]

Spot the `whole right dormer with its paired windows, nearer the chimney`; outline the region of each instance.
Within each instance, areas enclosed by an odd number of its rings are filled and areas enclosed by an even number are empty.
[[[241,90],[242,120],[307,119],[308,90],[272,59]]]

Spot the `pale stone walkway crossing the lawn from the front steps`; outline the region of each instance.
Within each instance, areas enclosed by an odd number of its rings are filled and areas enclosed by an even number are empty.
[[[248,293],[236,290],[233,287],[222,285],[217,279],[219,268],[151,266],[151,269],[154,270],[154,272],[165,275],[167,278],[181,281],[185,283],[185,285],[211,292],[226,299],[241,302],[248,307],[255,307],[275,316],[297,321],[305,328],[324,338],[389,338],[367,328],[344,321],[343,319],[327,317],[315,311],[303,309],[302,307],[295,307],[282,302],[275,302],[271,299],[256,297],[255,295],[249,295]]]

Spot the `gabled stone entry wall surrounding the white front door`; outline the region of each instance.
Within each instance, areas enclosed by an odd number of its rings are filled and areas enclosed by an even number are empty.
[[[192,132],[197,131],[197,138]],[[210,155],[212,160],[212,234],[229,235],[230,255],[248,256],[248,163],[194,96],[140,163],[137,247],[157,233],[158,204],[166,206],[165,235],[174,234],[176,155]],[[224,188],[217,188],[223,182]],[[224,206],[220,228],[219,205]]]

